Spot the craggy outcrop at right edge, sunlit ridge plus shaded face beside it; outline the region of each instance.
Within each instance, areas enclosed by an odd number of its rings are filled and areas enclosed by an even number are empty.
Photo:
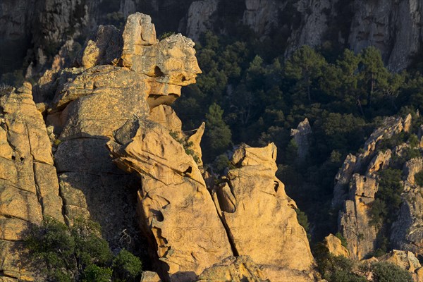
[[[381,150],[380,142],[402,132],[409,132],[411,116],[386,118],[384,124],[374,130],[365,142],[363,152],[350,154],[339,170],[333,192],[333,207],[341,205],[338,229],[348,241],[350,257],[363,259],[377,246],[378,233],[384,226],[371,223],[372,203],[379,190],[379,172],[386,168],[398,168],[398,159],[405,158],[410,144],[403,143],[391,149]],[[417,146],[419,147],[419,146]],[[417,149],[417,147],[415,149]],[[402,166],[403,164],[401,164]],[[422,188],[415,183],[415,174],[423,170],[422,158],[414,158],[403,165],[403,181],[400,185],[401,204],[398,218],[393,219],[389,243],[399,250],[423,253]]]

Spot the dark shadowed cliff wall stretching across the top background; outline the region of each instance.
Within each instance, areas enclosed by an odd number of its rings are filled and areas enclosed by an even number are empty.
[[[87,37],[110,16],[136,11],[154,15],[161,32],[178,30],[195,40],[205,30],[226,33],[234,23],[250,27],[261,39],[277,30],[287,42],[282,50],[286,56],[304,44],[331,42],[356,52],[375,46],[393,71],[409,66],[422,47],[423,5],[418,0],[120,0],[109,5],[95,0],[17,0],[0,6],[0,74],[29,65],[27,76],[37,77],[46,67],[70,66],[66,53],[80,48],[80,35]]]

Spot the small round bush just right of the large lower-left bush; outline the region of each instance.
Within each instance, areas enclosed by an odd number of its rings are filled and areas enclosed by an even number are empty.
[[[127,250],[121,250],[114,258],[114,275],[121,281],[140,281],[141,261]]]

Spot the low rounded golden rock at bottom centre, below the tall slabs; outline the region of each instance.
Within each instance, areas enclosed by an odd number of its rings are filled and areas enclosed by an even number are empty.
[[[228,257],[205,269],[197,282],[265,282],[262,271],[248,256]]]

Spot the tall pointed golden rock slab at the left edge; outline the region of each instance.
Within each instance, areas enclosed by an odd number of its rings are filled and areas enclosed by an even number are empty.
[[[46,216],[63,222],[50,140],[31,88],[25,82],[0,94],[1,281],[32,281],[35,269],[20,250],[26,229]]]

